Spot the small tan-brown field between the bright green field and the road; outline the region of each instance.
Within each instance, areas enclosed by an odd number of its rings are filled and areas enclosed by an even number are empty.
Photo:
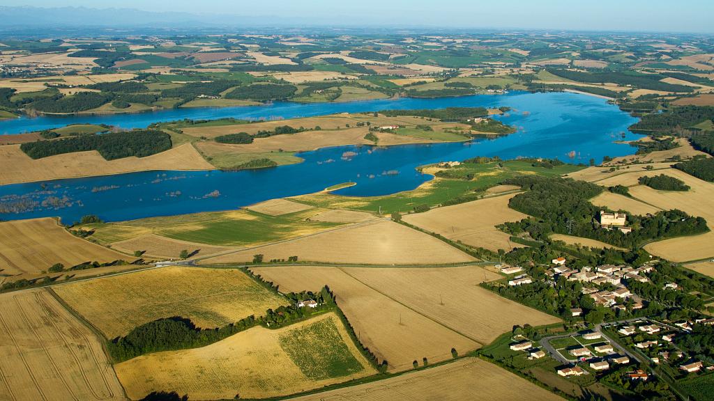
[[[133,254],[136,250],[141,250],[144,251],[142,255],[144,258],[153,256],[154,258],[167,259],[178,258],[182,250],[188,250],[191,257],[194,257],[211,255],[231,249],[225,246],[174,240],[173,238],[166,238],[155,234],[112,243],[111,248],[129,254]]]

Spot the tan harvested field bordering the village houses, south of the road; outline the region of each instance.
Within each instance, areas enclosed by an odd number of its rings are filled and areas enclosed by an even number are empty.
[[[456,268],[343,268],[347,275],[417,313],[488,344],[513,325],[560,319],[507,300],[479,286],[501,275],[478,266]]]

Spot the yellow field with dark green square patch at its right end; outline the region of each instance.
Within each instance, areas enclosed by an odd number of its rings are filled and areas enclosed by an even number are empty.
[[[135,400],[165,389],[215,400],[289,395],[376,370],[327,313],[277,330],[251,328],[206,347],[142,355],[116,365],[116,372]]]

